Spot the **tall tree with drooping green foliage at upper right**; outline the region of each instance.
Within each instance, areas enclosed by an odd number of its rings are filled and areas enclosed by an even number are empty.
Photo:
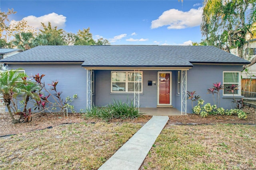
[[[255,21],[255,0],[205,0],[201,32],[208,45],[228,52],[236,48],[238,56],[245,58],[246,34]]]

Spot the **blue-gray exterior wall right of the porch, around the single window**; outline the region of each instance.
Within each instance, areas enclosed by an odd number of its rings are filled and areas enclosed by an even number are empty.
[[[204,104],[214,105],[212,94],[207,94],[207,89],[212,88],[213,83],[221,82],[223,84],[223,71],[242,71],[241,65],[195,65],[187,71],[187,91],[196,91],[204,100]],[[215,102],[216,102],[216,95]],[[237,98],[242,98],[238,96]],[[232,103],[233,96],[223,96],[223,90],[220,91],[220,107],[232,109],[235,104]],[[194,106],[197,103],[194,102]],[[187,100],[187,113],[192,113],[192,104]]]

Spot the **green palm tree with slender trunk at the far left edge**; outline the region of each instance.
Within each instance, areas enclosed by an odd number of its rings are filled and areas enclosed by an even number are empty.
[[[4,105],[6,105],[10,117],[12,118],[12,123],[14,124],[18,123],[18,120],[12,115],[10,104],[15,95],[22,93],[19,83],[22,81],[21,77],[26,76],[25,73],[20,73],[14,70],[6,70],[0,73],[0,97],[2,97]]]

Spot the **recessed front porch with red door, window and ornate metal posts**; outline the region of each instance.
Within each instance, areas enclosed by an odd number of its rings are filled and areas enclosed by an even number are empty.
[[[87,108],[104,107],[115,100],[132,101],[146,115],[187,113],[185,68],[86,70]]]

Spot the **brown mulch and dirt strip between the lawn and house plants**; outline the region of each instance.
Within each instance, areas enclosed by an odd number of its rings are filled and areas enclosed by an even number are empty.
[[[183,124],[215,124],[215,123],[238,123],[238,124],[256,124],[256,109],[253,107],[245,107],[244,111],[248,113],[247,119],[239,119],[237,116],[208,116],[202,118],[199,115],[188,114],[182,116],[170,116],[166,126],[170,125],[183,125]],[[115,119],[111,122],[131,122],[131,123],[146,123],[151,116],[143,116],[133,120],[120,120]],[[18,119],[18,116],[16,116]],[[30,123],[18,123],[13,125],[11,123],[10,115],[6,112],[0,114],[0,136],[7,134],[19,134],[30,132],[33,130],[40,130],[47,127],[54,127],[61,124],[70,123],[93,123],[100,122],[98,119],[85,120],[81,114],[69,114],[68,117],[64,115],[52,114],[35,114],[32,116]]]

